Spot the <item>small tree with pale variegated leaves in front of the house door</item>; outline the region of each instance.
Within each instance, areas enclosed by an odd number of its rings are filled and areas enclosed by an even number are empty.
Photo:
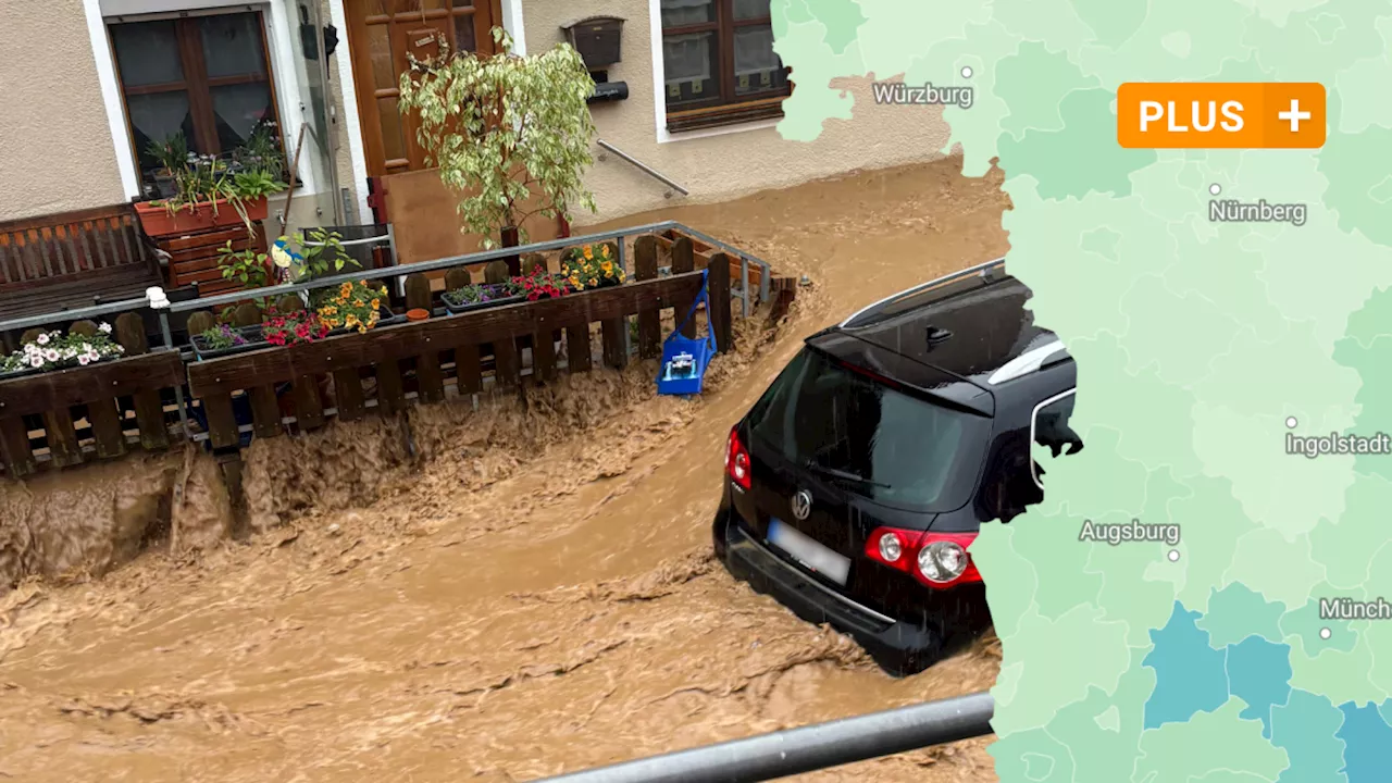
[[[401,75],[401,111],[413,113],[418,138],[440,180],[459,194],[464,231],[484,248],[526,242],[523,220],[569,217],[574,205],[594,212],[580,174],[590,166],[594,124],[585,99],[594,81],[567,43],[540,54],[511,53],[512,39],[493,29],[498,54],[412,57]],[[529,209],[530,208],[530,209]],[[521,274],[521,262],[508,259]]]

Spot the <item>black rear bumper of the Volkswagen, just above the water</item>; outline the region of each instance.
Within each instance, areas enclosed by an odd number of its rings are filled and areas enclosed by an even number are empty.
[[[912,673],[941,655],[944,639],[933,628],[881,614],[803,575],[735,524],[728,509],[721,509],[713,532],[715,553],[735,578],[771,595],[809,623],[830,623],[851,635],[885,669]]]

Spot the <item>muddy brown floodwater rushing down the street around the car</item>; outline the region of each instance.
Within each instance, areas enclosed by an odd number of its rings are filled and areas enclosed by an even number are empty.
[[[625,220],[814,281],[775,336],[742,326],[700,401],[654,396],[643,365],[525,408],[420,410],[415,463],[391,464],[380,422],[267,442],[248,457],[260,532],[19,584],[0,596],[0,779],[530,780],[988,688],[988,639],[895,680],[709,555],[725,436],[800,337],[1004,255],[999,171],[959,171]],[[994,780],[986,744],[802,779]]]

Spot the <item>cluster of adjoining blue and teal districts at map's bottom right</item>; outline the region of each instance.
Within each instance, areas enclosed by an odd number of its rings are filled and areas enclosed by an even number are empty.
[[[1143,730],[1214,712],[1236,697],[1247,705],[1239,718],[1260,722],[1261,736],[1286,752],[1289,766],[1276,783],[1392,780],[1392,699],[1335,706],[1327,697],[1293,690],[1290,645],[1270,641],[1278,620],[1270,609],[1283,606],[1258,606],[1246,588],[1225,592],[1211,614],[1176,600],[1165,627],[1150,631],[1155,646],[1141,663],[1155,670],[1155,688]],[[1214,638],[1228,644],[1215,646]]]

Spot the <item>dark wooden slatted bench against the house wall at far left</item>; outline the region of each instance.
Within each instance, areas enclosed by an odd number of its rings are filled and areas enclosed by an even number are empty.
[[[163,284],[129,203],[0,223],[0,320],[138,298]]]

